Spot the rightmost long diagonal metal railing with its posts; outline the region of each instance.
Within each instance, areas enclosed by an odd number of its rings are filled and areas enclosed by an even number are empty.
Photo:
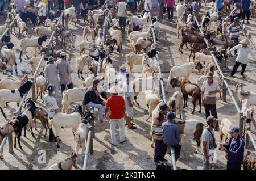
[[[203,30],[200,28],[200,24],[199,24],[199,22],[198,22],[196,16],[193,16],[193,17],[194,17],[194,19],[195,19],[195,22],[196,22],[196,24],[197,24],[197,27],[199,27],[199,31],[200,31],[201,33],[204,33]],[[207,44],[207,47],[209,47],[210,44],[208,43],[207,39],[204,38],[204,41],[205,41],[205,44]],[[224,74],[222,73],[221,68],[220,68],[220,66],[218,65],[218,61],[216,60],[216,57],[214,56],[213,52],[211,52],[211,55],[212,55],[212,57],[213,57],[214,64],[216,64],[217,69],[218,69],[218,72],[220,73],[221,78],[222,78],[223,101],[226,102],[226,90],[228,90],[229,95],[230,95],[230,97],[232,98],[232,101],[233,101],[233,103],[234,103],[234,106],[236,107],[236,110],[237,110],[237,112],[239,113],[239,130],[240,130],[240,133],[242,134],[242,133],[243,133],[243,113],[241,112],[241,109],[240,109],[240,107],[238,106],[237,101],[236,101],[234,95],[232,94],[231,89],[229,88],[228,82],[226,82],[226,77],[225,77]]]

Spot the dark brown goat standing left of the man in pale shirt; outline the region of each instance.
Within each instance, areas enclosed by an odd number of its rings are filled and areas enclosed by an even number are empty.
[[[192,103],[193,103],[193,111],[191,112],[192,114],[195,112],[195,107],[196,107],[196,100],[199,100],[199,112],[201,112],[201,90],[199,88],[199,86],[197,86],[196,84],[193,84],[191,82],[189,82],[187,79],[184,78],[177,78],[174,77],[171,79],[171,85],[172,87],[180,87],[181,88],[181,92],[183,94],[183,98],[184,98],[184,106],[188,107],[188,95],[192,96]]]

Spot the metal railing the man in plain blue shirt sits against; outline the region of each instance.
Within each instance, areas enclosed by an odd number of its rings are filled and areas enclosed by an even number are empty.
[[[152,34],[153,34],[155,49],[157,49],[155,30],[154,30],[154,26],[153,26],[152,22],[151,22],[151,30],[152,30]],[[159,73],[159,89],[160,89],[159,94],[161,92],[161,94],[159,96],[160,96],[160,99],[163,99],[164,103],[167,104],[166,93],[164,91],[163,75],[162,75],[162,71],[161,71],[161,67],[160,67],[160,63],[159,63],[159,59],[158,59],[158,53],[156,53],[155,58],[156,58],[156,62],[158,65],[158,73]],[[172,146],[170,146],[170,151],[171,151],[171,157],[172,157],[172,167],[174,170],[177,170],[174,148],[172,148]]]

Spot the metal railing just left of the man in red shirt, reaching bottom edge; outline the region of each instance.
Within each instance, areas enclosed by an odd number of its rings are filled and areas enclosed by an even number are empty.
[[[103,35],[101,37],[101,43],[100,43],[101,49],[103,49],[105,38],[106,38],[106,17],[104,19],[104,26],[103,26],[102,33],[103,33]],[[101,57],[99,55],[97,76],[100,75],[100,71],[101,71]],[[94,112],[94,108],[92,108],[92,111]],[[82,170],[86,170],[88,155],[93,153],[93,138],[95,137],[94,120],[90,121],[90,126],[88,127],[88,129],[89,129],[89,131],[88,131],[88,136],[87,136],[84,165],[82,166]]]

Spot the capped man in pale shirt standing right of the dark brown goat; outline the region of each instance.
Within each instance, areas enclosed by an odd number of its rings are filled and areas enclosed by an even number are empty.
[[[215,96],[216,93],[219,93],[221,91],[221,89],[218,85],[218,82],[213,79],[213,73],[211,71],[207,74],[207,80],[203,82],[201,91],[201,100],[204,103],[205,119],[210,116],[210,113],[217,119],[218,115],[216,110]],[[215,130],[218,130],[218,124],[217,127],[215,127]]]

